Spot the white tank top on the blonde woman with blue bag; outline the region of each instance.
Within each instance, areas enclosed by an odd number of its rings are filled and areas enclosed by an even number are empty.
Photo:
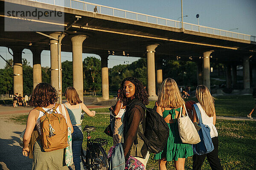
[[[196,104],[201,112],[201,117],[202,117],[202,122],[204,125],[208,125],[211,129],[210,131],[210,135],[211,135],[211,138],[215,137],[215,136],[218,136],[218,131],[215,127],[215,125],[213,125],[213,116],[212,117],[209,117],[204,109],[202,108],[201,104],[198,102]],[[194,113],[193,113],[194,114]]]

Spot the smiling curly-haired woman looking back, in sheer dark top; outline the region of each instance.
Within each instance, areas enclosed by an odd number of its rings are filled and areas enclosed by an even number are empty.
[[[122,89],[120,102],[126,106],[123,122],[125,161],[129,156],[134,156],[146,166],[149,152],[143,138],[137,133],[138,131],[142,134],[145,132],[145,110],[137,103],[148,105],[148,93],[142,82],[134,77],[125,78],[120,89]]]

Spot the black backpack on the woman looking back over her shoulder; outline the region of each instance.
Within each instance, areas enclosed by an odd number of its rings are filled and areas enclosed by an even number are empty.
[[[138,130],[138,134],[147,145],[148,151],[150,153],[160,153],[166,146],[167,140],[169,138],[169,126],[163,117],[157,113],[156,106],[151,109],[146,108],[140,102],[136,102],[135,105],[140,105],[145,109],[146,112],[145,132],[142,134]]]

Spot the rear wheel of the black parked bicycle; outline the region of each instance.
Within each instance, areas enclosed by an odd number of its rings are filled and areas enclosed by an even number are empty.
[[[89,144],[86,151],[86,164],[88,170],[108,170],[107,154],[101,145]]]

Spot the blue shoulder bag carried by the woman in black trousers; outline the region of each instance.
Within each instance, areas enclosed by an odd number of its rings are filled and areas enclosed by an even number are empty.
[[[201,118],[201,112],[196,104],[194,104],[196,114],[198,116],[199,123],[198,125],[201,126],[201,129],[198,131],[200,136],[201,142],[197,144],[192,144],[193,152],[197,155],[203,155],[209,152],[212,152],[214,149],[212,144],[212,139],[210,136],[210,127],[204,125]]]

